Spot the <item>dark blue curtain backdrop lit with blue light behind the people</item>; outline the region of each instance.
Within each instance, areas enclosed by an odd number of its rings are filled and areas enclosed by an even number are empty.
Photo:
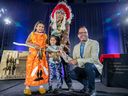
[[[34,24],[43,20],[48,32],[49,17],[55,3],[39,2],[0,2],[0,7],[8,10],[7,15],[12,18],[11,25],[4,25],[0,18],[0,44],[4,38],[4,49],[27,50],[26,47],[14,46],[12,42],[25,43]],[[122,45],[121,18],[126,4],[69,4],[74,14],[70,40],[71,49],[78,43],[77,31],[79,26],[85,25],[89,31],[89,37],[98,40],[100,53],[124,53]],[[5,29],[4,29],[5,28]],[[4,33],[4,37],[3,37]]]

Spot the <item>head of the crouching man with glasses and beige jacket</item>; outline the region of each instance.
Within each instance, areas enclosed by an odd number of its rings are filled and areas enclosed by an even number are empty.
[[[85,27],[81,27],[78,30],[78,38],[80,39],[80,41],[87,41],[88,39],[88,31]]]

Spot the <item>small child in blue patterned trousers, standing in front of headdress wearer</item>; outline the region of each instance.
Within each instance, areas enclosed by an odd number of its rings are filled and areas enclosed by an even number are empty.
[[[60,46],[58,46],[57,37],[50,37],[50,46],[47,47],[48,55],[49,55],[49,90],[48,92],[57,92],[62,88],[63,80],[62,80],[62,63],[60,58]],[[53,90],[54,77],[56,77],[57,85],[55,90]]]

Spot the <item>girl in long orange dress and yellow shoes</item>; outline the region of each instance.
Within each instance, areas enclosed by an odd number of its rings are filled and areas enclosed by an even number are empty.
[[[38,21],[34,30],[26,40],[29,46],[29,55],[26,64],[26,79],[24,94],[31,95],[30,86],[39,86],[39,93],[46,92],[42,84],[48,83],[48,63],[46,60],[45,47],[47,35],[44,32],[44,24]]]

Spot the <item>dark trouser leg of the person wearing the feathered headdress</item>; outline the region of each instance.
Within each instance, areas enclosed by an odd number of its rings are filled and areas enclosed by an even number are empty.
[[[68,88],[70,88],[72,86],[72,80],[70,77],[70,66],[63,59],[62,59],[62,64],[63,64],[63,68],[64,68],[64,80],[65,80]]]

